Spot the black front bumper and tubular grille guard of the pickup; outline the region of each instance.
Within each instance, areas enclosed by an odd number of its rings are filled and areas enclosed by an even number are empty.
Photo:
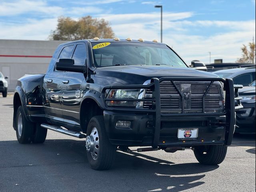
[[[174,81],[221,81],[226,91],[225,112],[185,113],[182,107],[180,114],[162,114],[160,110],[160,82]],[[152,89],[152,109],[114,108],[108,107],[105,91],[110,89]],[[231,79],[222,78],[152,78],[148,85],[120,85],[105,86],[101,98],[104,103],[104,119],[108,138],[112,144],[126,146],[152,146],[152,148],[165,148],[168,146],[196,146],[210,144],[230,145],[235,127],[235,109],[242,108],[238,96],[238,88],[234,90]],[[208,88],[208,90],[210,87]],[[208,90],[204,95],[207,94]],[[235,107],[235,98],[238,106]],[[182,103],[183,96],[181,95]],[[204,99],[204,98],[203,98]],[[122,101],[130,99],[111,99]],[[132,99],[132,101],[147,101],[146,99]],[[204,100],[203,100],[204,103]],[[183,106],[183,104],[182,104]],[[130,127],[116,127],[118,120],[130,121]],[[177,138],[178,128],[198,128],[196,140],[180,141]]]

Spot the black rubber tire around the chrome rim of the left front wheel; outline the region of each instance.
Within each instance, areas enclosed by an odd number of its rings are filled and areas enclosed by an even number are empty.
[[[110,144],[108,140],[103,116],[94,116],[91,118],[86,132],[87,136],[90,136],[93,128],[98,130],[98,154],[97,159],[95,160],[92,157],[91,152],[86,150],[87,159],[93,169],[107,170],[114,162],[116,146]]]

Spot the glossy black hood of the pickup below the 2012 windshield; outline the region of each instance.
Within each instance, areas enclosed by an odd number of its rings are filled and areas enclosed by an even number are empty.
[[[218,77],[216,74],[192,68],[169,66],[110,66],[97,68],[95,77],[107,78],[122,84],[143,84],[151,78],[161,77]]]

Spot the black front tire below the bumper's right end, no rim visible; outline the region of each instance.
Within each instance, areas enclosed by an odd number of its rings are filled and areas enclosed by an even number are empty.
[[[227,148],[224,145],[196,146],[194,154],[201,164],[218,165],[225,159]]]

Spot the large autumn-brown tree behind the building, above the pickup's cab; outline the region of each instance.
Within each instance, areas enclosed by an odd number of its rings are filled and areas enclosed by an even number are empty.
[[[114,32],[104,19],[86,16],[78,21],[70,17],[59,17],[56,30],[52,31],[50,40],[80,40],[98,38],[113,38]]]

